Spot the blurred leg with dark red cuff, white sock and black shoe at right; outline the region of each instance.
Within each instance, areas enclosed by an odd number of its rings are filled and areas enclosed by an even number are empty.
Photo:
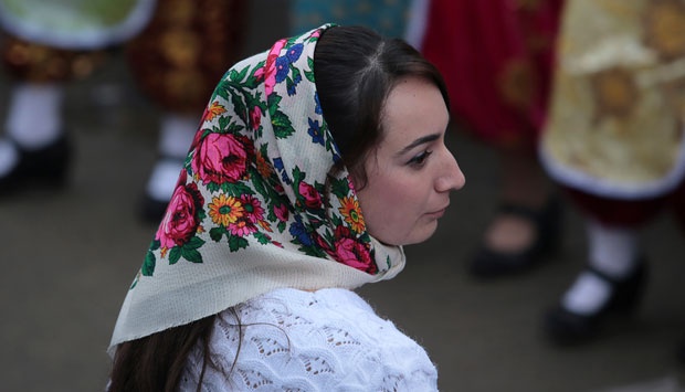
[[[593,338],[604,318],[637,306],[647,274],[639,233],[665,201],[613,200],[576,190],[570,194],[587,214],[588,264],[546,314],[546,331],[560,343]]]

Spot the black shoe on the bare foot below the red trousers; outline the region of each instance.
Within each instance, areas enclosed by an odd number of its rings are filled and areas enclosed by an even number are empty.
[[[528,247],[512,253],[498,252],[486,245],[481,245],[468,266],[470,273],[479,278],[525,272],[537,265],[542,256],[558,243],[562,208],[561,201],[556,197],[550,198],[540,211],[506,203],[498,208],[498,214],[513,214],[530,221],[536,232],[536,239]]]

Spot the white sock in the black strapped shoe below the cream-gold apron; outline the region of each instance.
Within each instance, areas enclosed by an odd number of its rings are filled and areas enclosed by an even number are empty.
[[[637,233],[633,229],[588,223],[589,263],[602,274],[622,279],[633,272],[637,261]],[[596,274],[583,272],[566,292],[561,304],[568,310],[596,314],[610,298],[612,286]]]

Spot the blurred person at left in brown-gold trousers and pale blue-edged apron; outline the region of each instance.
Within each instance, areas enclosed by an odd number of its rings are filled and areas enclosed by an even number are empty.
[[[242,0],[0,0],[2,60],[14,80],[0,138],[0,192],[65,181],[73,152],[64,88],[91,75],[105,50],[125,45],[138,86],[164,110],[140,211],[157,221],[204,103],[235,60],[243,8]]]

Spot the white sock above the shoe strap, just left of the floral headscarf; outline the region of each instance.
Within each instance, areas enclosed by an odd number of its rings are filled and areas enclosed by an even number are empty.
[[[160,155],[162,157],[186,158],[199,124],[200,119],[196,116],[165,115],[159,131]]]

